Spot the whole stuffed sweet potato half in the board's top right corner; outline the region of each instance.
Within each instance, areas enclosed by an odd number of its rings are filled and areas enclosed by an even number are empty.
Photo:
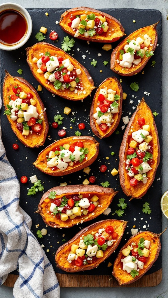
[[[120,42],[111,55],[110,68],[113,72],[132,76],[143,69],[154,55],[158,42],[156,31],[158,23],[138,29]]]

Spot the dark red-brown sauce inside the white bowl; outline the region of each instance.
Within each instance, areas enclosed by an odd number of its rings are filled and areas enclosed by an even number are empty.
[[[16,44],[27,32],[27,22],[24,16],[16,10],[4,10],[0,13],[0,42]]]

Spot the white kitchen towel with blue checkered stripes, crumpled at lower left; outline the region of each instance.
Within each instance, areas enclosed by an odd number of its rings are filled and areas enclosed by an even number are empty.
[[[0,127],[0,285],[18,269],[13,298],[59,298],[54,269],[30,231],[31,218],[19,206],[19,195],[19,181],[7,160]]]

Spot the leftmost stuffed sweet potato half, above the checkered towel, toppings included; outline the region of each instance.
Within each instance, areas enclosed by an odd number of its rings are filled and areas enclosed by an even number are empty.
[[[4,114],[13,132],[27,147],[44,144],[48,120],[37,91],[21,77],[13,77],[5,70],[3,84]]]

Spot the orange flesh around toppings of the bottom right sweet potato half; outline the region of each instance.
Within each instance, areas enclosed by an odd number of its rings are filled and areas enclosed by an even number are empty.
[[[117,279],[119,282],[119,285],[128,285],[130,283],[135,282],[138,280],[140,277],[142,277],[155,263],[155,261],[158,258],[159,252],[161,250],[161,242],[159,239],[160,234],[155,234],[152,232],[139,232],[136,235],[133,235],[129,241],[121,248],[117,259],[114,262],[113,266],[113,272],[112,274],[114,277]],[[140,269],[139,275],[136,277],[132,277],[130,273],[127,273],[127,271],[122,270],[123,268],[123,263],[121,262],[121,259],[123,258],[122,250],[126,248],[128,245],[131,245],[132,242],[139,242],[140,238],[144,238],[145,240],[149,240],[150,243],[150,253],[149,257],[146,259],[146,263],[143,265],[143,269]]]

